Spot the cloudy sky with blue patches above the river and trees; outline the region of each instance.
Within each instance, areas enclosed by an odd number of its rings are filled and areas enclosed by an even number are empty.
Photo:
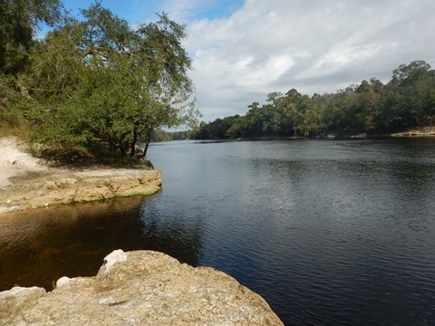
[[[73,14],[89,0],[65,0]],[[102,0],[131,26],[166,12],[187,24],[184,46],[202,120],[245,114],[293,88],[333,92],[402,63],[435,68],[434,0]]]

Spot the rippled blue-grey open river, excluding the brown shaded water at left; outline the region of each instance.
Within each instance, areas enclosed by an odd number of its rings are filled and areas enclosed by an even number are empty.
[[[203,216],[200,264],[259,292],[285,323],[435,321],[433,139],[156,148],[169,187],[153,214]]]

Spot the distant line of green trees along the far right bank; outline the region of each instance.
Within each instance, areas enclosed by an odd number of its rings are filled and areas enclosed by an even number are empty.
[[[351,136],[435,125],[435,71],[423,61],[402,64],[390,82],[362,81],[324,95],[292,89],[253,102],[245,116],[202,122],[195,139]]]

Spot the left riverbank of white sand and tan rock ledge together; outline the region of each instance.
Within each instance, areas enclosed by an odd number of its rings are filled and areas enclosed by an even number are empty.
[[[160,190],[160,170],[51,167],[16,138],[0,139],[0,214],[29,208],[86,203]]]

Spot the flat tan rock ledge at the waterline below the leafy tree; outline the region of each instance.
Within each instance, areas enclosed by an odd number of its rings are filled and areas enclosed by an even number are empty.
[[[113,197],[151,195],[160,190],[161,173],[146,168],[64,170],[16,178],[0,189],[0,214],[28,208],[85,203]]]

